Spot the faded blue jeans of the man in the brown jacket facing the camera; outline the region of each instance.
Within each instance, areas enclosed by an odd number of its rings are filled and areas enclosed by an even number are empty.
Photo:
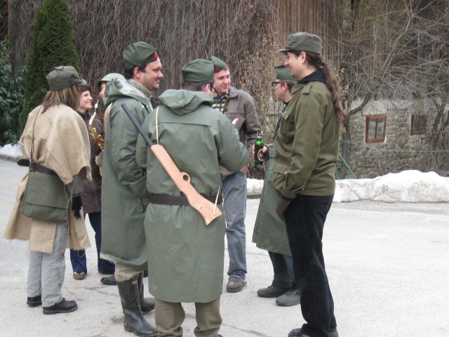
[[[246,277],[246,176],[237,171],[222,181],[229,277]]]

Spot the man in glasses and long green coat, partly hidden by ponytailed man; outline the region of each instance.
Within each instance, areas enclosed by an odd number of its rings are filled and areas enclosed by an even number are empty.
[[[292,97],[291,89],[297,84],[297,79],[292,76],[285,65],[274,68],[276,80],[272,81],[274,93],[278,100],[283,102],[283,111]],[[267,170],[264,178],[264,187],[260,197],[259,209],[255,219],[253,242],[260,249],[268,251],[272,260],[274,279],[270,286],[257,290],[260,297],[276,298],[276,304],[281,306],[297,305],[301,300],[301,291],[295,284],[292,256],[288,246],[286,224],[276,213],[276,201],[278,194],[273,186],[274,158],[276,156],[276,136],[281,124],[281,114],[276,123],[273,143],[264,146],[262,152],[267,162]]]

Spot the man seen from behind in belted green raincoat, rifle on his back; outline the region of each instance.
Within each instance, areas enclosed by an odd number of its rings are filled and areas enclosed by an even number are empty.
[[[213,65],[194,60],[182,67],[182,90],[167,90],[162,105],[143,128],[162,145],[192,186],[222,211],[220,166],[239,171],[247,150],[229,119],[213,104]],[[145,215],[149,291],[156,302],[158,336],[182,336],[182,303],[195,303],[195,336],[215,337],[220,329],[220,296],[225,259],[225,218],[206,225],[200,214],[154,157],[140,136],[138,163],[147,169],[149,205]],[[220,335],[218,335],[220,336]]]

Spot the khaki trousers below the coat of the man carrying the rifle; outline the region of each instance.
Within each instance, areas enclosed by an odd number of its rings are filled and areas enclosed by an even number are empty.
[[[158,337],[182,337],[181,324],[185,319],[185,311],[181,303],[166,302],[154,298],[156,308],[154,319]],[[220,297],[208,303],[195,303],[197,337],[217,337],[222,324],[220,315]]]

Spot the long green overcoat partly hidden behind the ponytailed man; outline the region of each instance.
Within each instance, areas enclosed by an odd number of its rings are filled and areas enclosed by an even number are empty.
[[[272,149],[276,149],[276,140],[273,142]],[[279,193],[274,190],[273,185],[274,163],[274,158],[270,158],[267,162],[264,187],[262,188],[259,209],[255,218],[253,242],[260,249],[292,255],[290,246],[288,246],[286,223],[276,213]]]

